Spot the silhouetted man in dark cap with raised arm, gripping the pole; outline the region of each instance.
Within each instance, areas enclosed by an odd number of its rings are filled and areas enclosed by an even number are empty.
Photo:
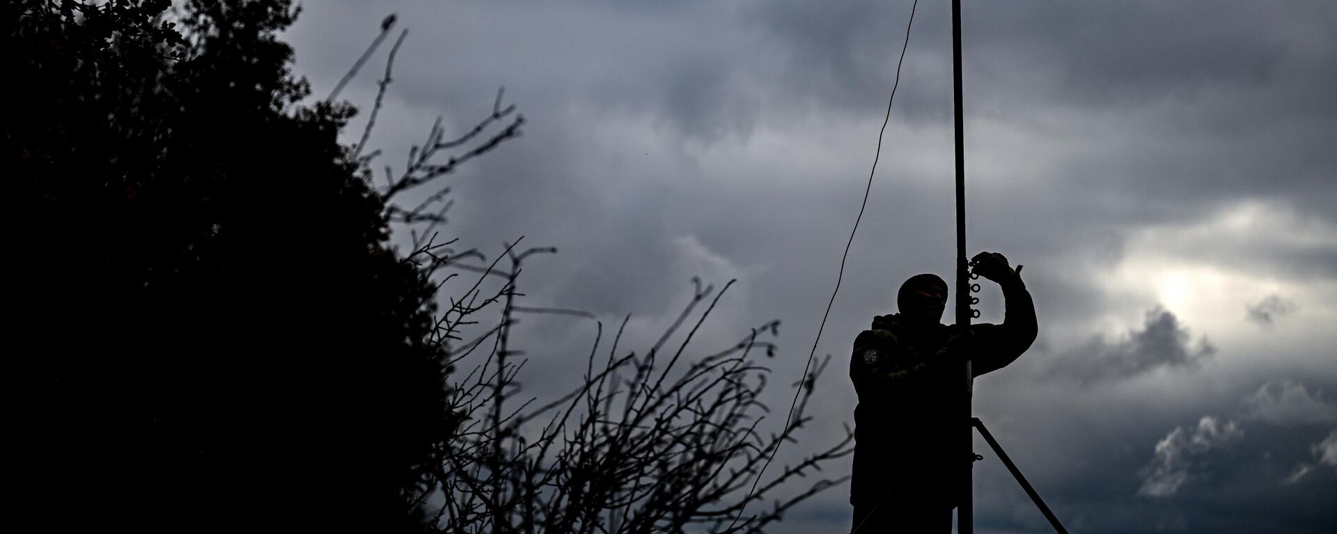
[[[849,376],[854,409],[854,529],[872,533],[948,533],[969,459],[963,441],[965,359],[975,376],[1012,363],[1035,340],[1035,304],[1001,254],[980,252],[972,272],[1003,287],[1003,324],[968,332],[940,323],[947,283],[912,276],[896,295],[900,312],[873,318],[854,339]]]

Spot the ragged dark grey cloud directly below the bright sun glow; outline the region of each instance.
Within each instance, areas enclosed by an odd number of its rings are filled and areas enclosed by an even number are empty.
[[[1189,328],[1165,308],[1147,311],[1140,330],[1116,340],[1102,336],[1064,352],[1051,367],[1054,376],[1083,383],[1138,376],[1158,368],[1193,368],[1215,354],[1206,338],[1193,342]]]

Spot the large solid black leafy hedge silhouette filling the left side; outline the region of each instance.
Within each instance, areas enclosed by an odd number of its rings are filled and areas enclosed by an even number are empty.
[[[336,140],[353,108],[297,105],[287,1],[167,8],[0,8],[21,509],[417,529],[453,425],[436,286]]]

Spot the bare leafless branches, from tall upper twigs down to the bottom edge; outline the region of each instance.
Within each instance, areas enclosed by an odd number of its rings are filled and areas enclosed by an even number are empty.
[[[393,19],[386,20],[373,47],[392,29]],[[404,35],[390,49],[372,119],[352,151],[364,168],[380,156],[380,151],[361,155],[361,150]],[[449,187],[439,187],[412,207],[396,203],[405,191],[433,186],[459,164],[517,136],[524,119],[513,105],[503,105],[501,97],[499,91],[492,113],[460,138],[445,140],[437,119],[424,143],[410,148],[401,174],[385,167],[385,216],[409,231],[406,260],[435,280],[439,299],[449,304],[439,311],[433,342],[447,348],[448,368],[477,360],[455,380],[448,395],[455,433],[437,445],[435,477],[414,495],[417,511],[427,514],[425,526],[445,533],[758,533],[804,499],[844,482],[848,477],[798,479],[853,451],[849,427],[833,446],[755,481],[767,455],[782,442],[794,442],[810,421],[805,409],[829,356],[793,384],[802,391],[789,425],[779,434],[759,431],[769,413],[758,400],[769,370],[758,364],[758,356],[774,355],[767,338],[777,335],[779,322],[751,328],[717,352],[689,350],[734,280],[715,291],[694,279],[691,302],[652,347],[620,351],[630,316],[604,347],[603,323],[591,314],[520,306],[521,264],[554,248],[517,250],[517,242],[488,263],[477,250],[453,248],[456,240],[437,242],[451,207]],[[491,129],[496,124],[504,125]],[[441,156],[445,163],[437,163]],[[507,264],[499,267],[503,259]],[[513,348],[517,314],[596,320],[579,386],[545,403],[519,402],[516,376],[527,358]],[[689,322],[691,328],[682,332]],[[763,511],[735,519],[753,502],[767,499]]]

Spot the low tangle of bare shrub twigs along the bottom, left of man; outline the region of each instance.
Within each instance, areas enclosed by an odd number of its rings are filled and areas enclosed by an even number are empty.
[[[845,481],[792,483],[850,454],[853,434],[848,429],[834,446],[785,466],[743,495],[767,453],[781,442],[793,442],[810,421],[805,407],[829,358],[794,384],[802,392],[793,425],[778,435],[762,435],[758,415],[767,410],[758,398],[767,370],[757,364],[757,356],[774,354],[774,344],[765,338],[777,334],[778,322],[753,328],[722,351],[685,358],[733,282],[715,292],[694,280],[693,300],[643,354],[619,352],[624,318],[600,355],[603,324],[598,323],[579,386],[537,407],[533,398],[516,406],[520,388],[515,378],[525,359],[517,360],[523,352],[512,347],[515,315],[583,315],[515,303],[524,258],[547,251],[513,252],[512,247],[507,271],[484,271],[505,279],[500,320],[451,352],[452,360],[460,362],[491,339],[492,348],[449,396],[461,425],[453,439],[443,443],[436,481],[422,494],[424,502],[436,507],[431,526],[448,533],[757,533],[794,505]],[[707,300],[710,304],[697,314]],[[670,343],[687,322],[693,322],[691,328]],[[775,498],[781,494],[785,497]],[[765,499],[774,499],[767,510],[734,523],[741,509]]]

